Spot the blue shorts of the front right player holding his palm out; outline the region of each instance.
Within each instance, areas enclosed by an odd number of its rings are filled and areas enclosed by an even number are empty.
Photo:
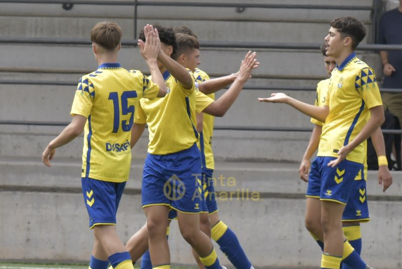
[[[306,197],[347,204],[349,191],[363,164],[343,160],[336,168],[327,164],[335,157],[319,156],[313,161],[309,175]]]

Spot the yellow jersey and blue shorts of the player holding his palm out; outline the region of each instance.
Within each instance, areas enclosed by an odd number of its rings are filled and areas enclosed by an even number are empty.
[[[329,115],[310,177],[320,179],[321,200],[347,204],[348,190],[363,168],[366,142],[354,148],[338,167],[327,164],[360,133],[370,117],[369,109],[382,105],[374,71],[356,58],[354,52],[332,72],[324,105],[329,106]],[[308,191],[307,196],[317,193]]]

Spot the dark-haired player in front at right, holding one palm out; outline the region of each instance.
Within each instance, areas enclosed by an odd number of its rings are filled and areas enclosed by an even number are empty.
[[[354,52],[365,34],[363,24],[353,17],[337,18],[331,22],[325,42],[327,55],[335,58],[337,68],[332,72],[323,107],[281,93],[258,99],[259,102],[288,104],[325,122],[317,158],[309,176],[317,178],[320,186],[320,193],[316,196],[321,200],[324,234],[321,268],[338,269],[341,261],[354,268],[367,266],[344,239],[342,231],[342,214],[349,199],[349,189],[361,171],[366,155],[362,142],[384,122],[374,71],[356,58]]]

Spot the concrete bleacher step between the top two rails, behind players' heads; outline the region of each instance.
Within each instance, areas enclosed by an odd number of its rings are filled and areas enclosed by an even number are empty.
[[[277,11],[275,11],[277,12]],[[280,13],[278,13],[280,14]],[[328,15],[329,16],[329,15]],[[138,32],[146,24],[179,27],[186,25],[201,41],[237,41],[237,42],[272,42],[272,43],[321,43],[330,28],[328,18],[324,22],[292,22],[284,19],[281,22],[256,21],[221,21],[221,20],[138,20]],[[118,18],[70,18],[70,17],[0,17],[0,28],[5,29],[4,36],[35,38],[86,38],[89,39],[92,27],[99,21],[115,20],[123,30],[124,39],[134,39],[134,23],[132,19]],[[225,29],[225,30],[222,30]],[[300,31],[303,29],[303,31]],[[371,26],[367,25],[368,33]],[[136,37],[137,38],[137,37]],[[370,39],[368,35],[362,43]]]

